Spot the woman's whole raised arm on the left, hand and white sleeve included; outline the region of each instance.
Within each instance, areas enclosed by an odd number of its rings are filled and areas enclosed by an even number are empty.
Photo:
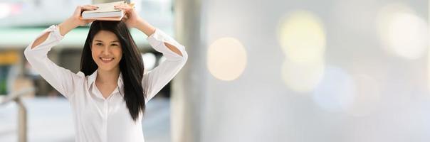
[[[47,28],[36,40],[34,40],[26,50],[24,55],[31,66],[58,92],[63,94],[65,97],[70,97],[73,94],[75,82],[78,82],[82,77],[85,77],[83,73],[75,75],[70,70],[66,70],[63,67],[59,67],[48,58],[48,52],[51,48],[57,45],[64,35],[71,31],[73,28],[83,26],[90,21],[82,21],[79,19],[80,13],[83,10],[96,9],[94,6],[78,6],[73,13],[63,23],[58,26],[51,26]]]

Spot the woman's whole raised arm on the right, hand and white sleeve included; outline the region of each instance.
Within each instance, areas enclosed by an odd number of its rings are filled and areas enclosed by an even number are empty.
[[[145,89],[145,102],[148,102],[184,67],[188,59],[187,52],[183,45],[138,16],[132,6],[122,4],[115,6],[115,8],[125,10],[127,26],[137,28],[145,33],[152,48],[166,57],[161,65],[150,72],[145,72],[143,76],[142,87]]]

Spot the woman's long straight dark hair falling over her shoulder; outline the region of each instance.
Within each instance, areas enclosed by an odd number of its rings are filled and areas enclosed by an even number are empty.
[[[85,75],[91,75],[98,69],[91,56],[91,45],[95,34],[102,30],[115,33],[120,40],[123,54],[120,60],[120,72],[124,84],[124,100],[133,121],[136,121],[139,114],[145,111],[145,94],[142,88],[144,66],[142,55],[137,50],[135,40],[124,21],[94,21],[91,24],[80,58],[80,71]]]

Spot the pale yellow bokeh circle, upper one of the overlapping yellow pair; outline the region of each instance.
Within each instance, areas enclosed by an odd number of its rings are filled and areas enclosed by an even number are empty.
[[[318,16],[309,11],[294,11],[280,23],[279,42],[287,58],[293,62],[322,60],[325,31]]]

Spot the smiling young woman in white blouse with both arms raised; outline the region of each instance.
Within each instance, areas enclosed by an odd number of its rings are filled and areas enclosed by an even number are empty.
[[[63,23],[47,28],[24,51],[28,62],[73,109],[75,141],[144,141],[142,114],[145,104],[177,75],[187,52],[137,15],[127,4],[115,6],[127,13],[122,21],[80,20],[80,13],[98,9],[78,6]],[[80,72],[58,67],[47,58],[49,50],[73,28],[90,26],[83,47]],[[144,72],[142,56],[128,28],[148,35],[148,42],[167,60]]]

